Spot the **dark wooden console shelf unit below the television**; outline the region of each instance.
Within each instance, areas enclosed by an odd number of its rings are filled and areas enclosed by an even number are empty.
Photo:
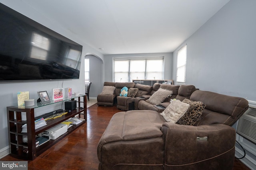
[[[78,97],[72,96],[72,98],[66,98],[61,102],[67,100],[74,100],[78,98],[78,107],[67,113],[62,115],[62,117],[58,117],[56,119],[47,120],[47,125],[35,129],[35,116],[34,116],[34,109],[38,107],[48,106],[52,104],[56,104],[58,102],[50,102],[49,104],[42,105],[41,103],[35,104],[35,106],[31,107],[21,107],[21,106],[9,106],[7,107],[7,117],[8,117],[8,135],[9,135],[9,145],[11,149],[10,155],[23,159],[23,160],[34,160],[37,156],[42,154],[45,150],[49,149],[52,145],[63,139],[66,135],[74,131],[76,128],[80,127],[82,124],[86,123],[87,121],[87,101],[86,95],[80,95]],[[83,98],[83,101],[81,101]],[[83,103],[81,109],[81,103]],[[22,114],[26,114],[26,120],[22,120]],[[78,114],[78,117],[81,117],[81,114],[84,115],[85,121],[79,123],[78,125],[73,125],[72,127],[68,128],[68,131],[58,137],[55,140],[50,140],[43,145],[36,147],[36,135],[46,131],[47,129],[58,125],[59,123],[69,119],[70,117],[74,117]],[[21,133],[22,125],[27,124],[28,131],[27,133]],[[24,136],[27,136],[28,143],[23,142]],[[24,147],[28,147],[28,153],[24,153]]]

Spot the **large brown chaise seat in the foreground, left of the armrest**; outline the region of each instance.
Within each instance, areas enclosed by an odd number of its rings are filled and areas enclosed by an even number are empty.
[[[118,112],[97,147],[99,170],[162,170],[164,118],[155,111]]]

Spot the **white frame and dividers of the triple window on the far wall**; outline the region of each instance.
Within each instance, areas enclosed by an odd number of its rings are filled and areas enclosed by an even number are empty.
[[[164,79],[164,56],[156,56],[156,57],[116,57],[116,58],[113,58],[113,82],[124,82],[121,80],[121,78],[119,78],[118,80],[116,80],[115,78],[115,61],[129,61],[129,71],[128,71],[128,82],[132,82],[132,78],[131,78],[131,69],[130,69],[130,61],[142,61],[144,60],[146,62],[145,64],[145,72],[144,72],[144,78],[145,80],[147,80],[147,72],[150,72],[147,70],[147,61],[150,61],[150,60],[162,60],[162,76],[159,78],[159,80],[163,80]],[[125,78],[126,79],[126,78]],[[157,79],[157,78],[156,78]]]

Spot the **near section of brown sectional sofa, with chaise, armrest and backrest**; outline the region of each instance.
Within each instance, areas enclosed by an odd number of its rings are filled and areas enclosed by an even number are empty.
[[[230,126],[248,101],[202,90],[189,99],[206,105],[194,125],[166,122],[153,110],[113,115],[98,143],[99,169],[232,170],[236,132]]]

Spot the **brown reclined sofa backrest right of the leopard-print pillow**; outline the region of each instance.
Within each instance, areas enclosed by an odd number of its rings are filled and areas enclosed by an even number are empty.
[[[244,98],[202,90],[194,91],[190,100],[201,101],[206,105],[202,113],[202,120],[196,123],[197,126],[214,123],[232,126],[248,109],[248,101]]]

